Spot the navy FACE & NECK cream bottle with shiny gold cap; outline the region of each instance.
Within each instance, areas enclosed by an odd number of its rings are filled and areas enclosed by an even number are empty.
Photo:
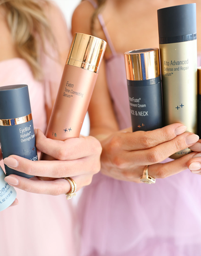
[[[159,50],[140,49],[124,54],[133,131],[163,127]]]

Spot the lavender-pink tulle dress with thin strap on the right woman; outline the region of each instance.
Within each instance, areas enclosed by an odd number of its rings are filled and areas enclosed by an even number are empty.
[[[131,126],[124,59],[105,35],[113,50],[107,81],[123,129]],[[80,207],[80,256],[201,256],[201,176],[189,170],[154,185],[98,173]]]

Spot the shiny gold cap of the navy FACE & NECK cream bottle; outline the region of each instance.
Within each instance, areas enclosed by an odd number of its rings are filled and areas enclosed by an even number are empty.
[[[158,48],[140,49],[124,53],[127,80],[139,81],[160,75]]]

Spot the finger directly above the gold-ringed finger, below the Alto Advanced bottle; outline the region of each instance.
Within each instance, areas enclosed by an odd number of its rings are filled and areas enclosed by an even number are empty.
[[[130,151],[126,155],[126,160],[130,162],[135,159],[134,165],[153,165],[160,163],[174,153],[192,146],[199,140],[199,136],[194,133],[185,132],[171,141],[160,144],[147,150]]]

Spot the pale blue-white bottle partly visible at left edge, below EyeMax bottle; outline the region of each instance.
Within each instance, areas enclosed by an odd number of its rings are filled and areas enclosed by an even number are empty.
[[[0,166],[0,211],[8,208],[16,199],[16,190],[14,187],[4,181],[5,173]]]

